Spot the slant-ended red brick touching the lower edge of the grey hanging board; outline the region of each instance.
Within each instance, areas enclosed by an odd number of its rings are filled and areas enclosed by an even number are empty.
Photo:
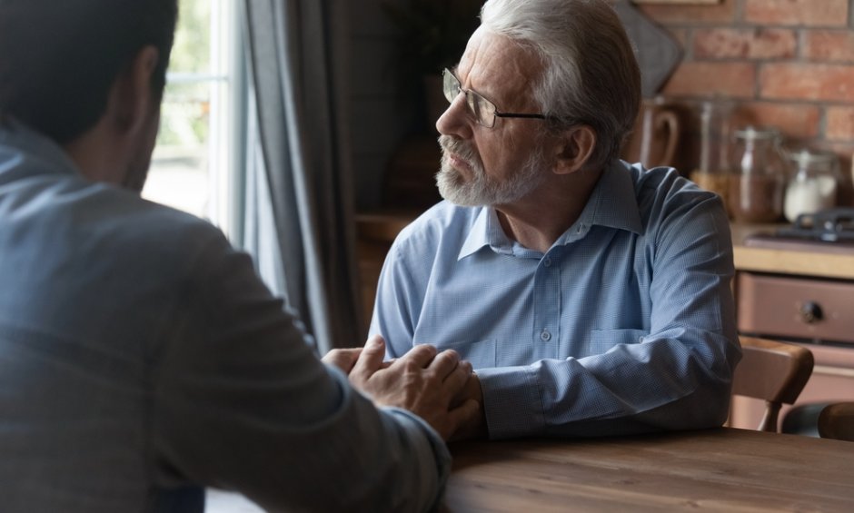
[[[751,98],[756,84],[756,67],[750,63],[680,64],[662,91],[670,96],[710,96],[720,94]]]

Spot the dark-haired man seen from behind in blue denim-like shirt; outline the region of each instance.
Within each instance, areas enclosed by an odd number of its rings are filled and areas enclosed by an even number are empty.
[[[434,508],[469,364],[331,354],[363,397],[222,232],[140,198],[176,15],[0,0],[0,509]]]

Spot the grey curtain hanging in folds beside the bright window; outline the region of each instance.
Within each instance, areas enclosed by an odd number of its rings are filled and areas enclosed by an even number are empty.
[[[361,345],[347,0],[243,0],[250,108],[243,246],[321,354]]]

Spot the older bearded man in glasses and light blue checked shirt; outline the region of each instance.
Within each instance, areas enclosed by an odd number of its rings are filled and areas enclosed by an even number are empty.
[[[740,346],[720,199],[618,151],[640,101],[601,0],[489,0],[460,64],[437,183],[402,231],[372,333],[453,348],[492,439],[719,426]]]

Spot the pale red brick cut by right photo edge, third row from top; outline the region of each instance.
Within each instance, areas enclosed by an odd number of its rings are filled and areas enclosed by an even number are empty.
[[[760,96],[854,102],[854,65],[765,64],[760,70]]]

